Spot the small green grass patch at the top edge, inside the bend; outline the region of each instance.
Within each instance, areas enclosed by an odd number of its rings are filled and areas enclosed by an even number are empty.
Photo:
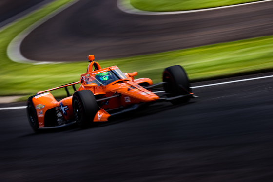
[[[185,11],[214,8],[261,0],[124,0],[143,11]],[[125,2],[124,2],[125,3]]]

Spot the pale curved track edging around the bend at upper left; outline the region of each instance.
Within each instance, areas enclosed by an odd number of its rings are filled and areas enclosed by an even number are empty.
[[[25,64],[57,64],[57,63],[63,63],[63,62],[47,62],[47,61],[36,61],[36,60],[31,60],[28,59],[26,57],[24,57],[21,54],[20,51],[20,46],[21,43],[23,41],[23,39],[28,36],[34,29],[36,29],[37,27],[39,27],[42,23],[46,22],[48,19],[56,16],[57,14],[59,14],[60,12],[62,12],[63,10],[67,9],[68,7],[72,6],[73,4],[75,4],[76,2],[78,2],[79,0],[72,0],[71,2],[61,6],[60,8],[58,8],[57,10],[53,11],[52,13],[48,14],[47,16],[45,16],[44,18],[41,18],[40,20],[38,20],[37,22],[35,22],[34,24],[32,24],[31,26],[29,26],[28,28],[26,28],[25,30],[23,30],[19,35],[17,35],[8,45],[7,48],[7,55],[8,57],[14,61],[14,62],[18,62],[18,63],[25,63]],[[33,13],[33,12],[32,12]],[[27,15],[29,16],[29,15]]]

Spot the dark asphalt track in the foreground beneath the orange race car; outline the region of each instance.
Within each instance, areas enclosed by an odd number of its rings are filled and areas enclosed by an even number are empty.
[[[195,88],[189,104],[85,130],[35,134],[24,109],[0,110],[0,181],[272,182],[272,82]]]

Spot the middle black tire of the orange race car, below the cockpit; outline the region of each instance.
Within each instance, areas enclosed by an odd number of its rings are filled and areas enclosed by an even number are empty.
[[[75,120],[82,129],[94,125],[94,117],[98,112],[98,104],[92,91],[82,90],[73,94],[72,107]]]

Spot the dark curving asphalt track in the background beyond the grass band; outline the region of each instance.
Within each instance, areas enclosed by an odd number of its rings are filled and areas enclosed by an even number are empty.
[[[158,53],[273,34],[273,2],[176,15],[121,12],[117,0],[80,0],[22,42],[40,61],[83,61]]]

